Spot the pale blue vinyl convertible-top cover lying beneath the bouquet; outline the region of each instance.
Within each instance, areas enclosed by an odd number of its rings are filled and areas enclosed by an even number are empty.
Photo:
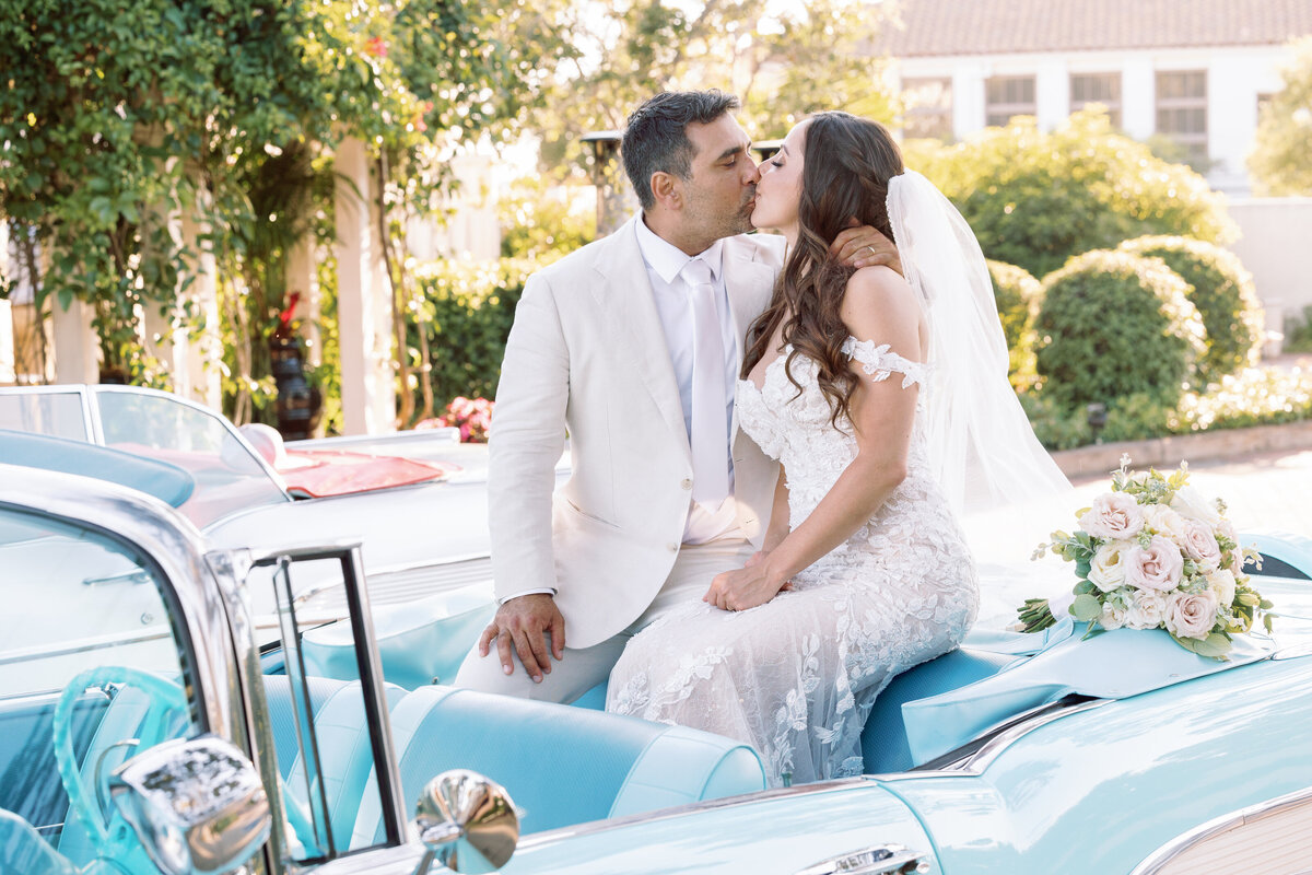
[[[1118,628],[1050,639],[1042,652],[975,683],[903,704],[912,761],[922,765],[987,729],[1069,695],[1124,699],[1266,659],[1270,639],[1237,636],[1228,661],[1197,656],[1164,630]]]

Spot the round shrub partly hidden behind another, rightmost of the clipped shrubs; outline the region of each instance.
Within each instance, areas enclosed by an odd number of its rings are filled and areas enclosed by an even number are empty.
[[[1119,249],[1161,258],[1193,287],[1189,299],[1207,328],[1207,352],[1198,361],[1203,383],[1257,363],[1262,304],[1252,274],[1235,253],[1191,237],[1160,236],[1126,240]]]

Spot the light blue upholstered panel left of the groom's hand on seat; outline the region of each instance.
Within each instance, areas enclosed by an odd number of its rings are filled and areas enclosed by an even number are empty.
[[[487,586],[375,609],[374,632],[383,680],[407,690],[450,683],[495,613],[496,602]],[[307,631],[302,651],[314,674],[342,681],[358,678],[356,638],[348,621]]]

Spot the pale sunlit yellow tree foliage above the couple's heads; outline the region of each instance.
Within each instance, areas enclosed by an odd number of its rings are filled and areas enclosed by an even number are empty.
[[[783,136],[820,109],[888,121],[893,98],[880,85],[883,60],[869,43],[886,21],[859,0],[810,0],[785,10],[753,0],[579,5],[548,0],[572,54],[550,75],[535,114],[542,157],[556,176],[590,160],[579,138],[621,130],[628,113],[665,89],[719,88],[744,104],[756,139]]]

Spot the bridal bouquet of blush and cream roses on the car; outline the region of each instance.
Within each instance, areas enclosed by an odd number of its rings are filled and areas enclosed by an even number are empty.
[[[1208,501],[1189,485],[1189,464],[1169,476],[1132,472],[1130,457],[1111,474],[1111,492],[1077,512],[1075,534],[1054,531],[1039,544],[1075,563],[1075,601],[1068,611],[1088,622],[1086,635],[1113,628],[1165,628],[1181,647],[1223,660],[1232,636],[1261,617],[1271,631],[1271,602],[1249,585],[1245,559],[1261,567],[1254,550],[1241,550],[1225,518],[1225,502]],[[1019,609],[1026,632],[1056,619],[1047,600]]]

